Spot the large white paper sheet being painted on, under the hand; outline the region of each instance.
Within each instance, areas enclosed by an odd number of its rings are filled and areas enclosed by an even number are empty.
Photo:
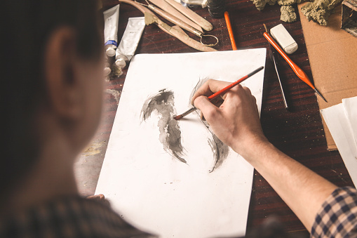
[[[229,149],[212,173],[212,136],[197,113],[179,121],[184,164],[159,141],[157,112],[143,121],[143,104],[166,88],[178,114],[189,109],[199,79],[236,81],[265,65],[266,49],[135,55],[123,87],[96,194],[105,194],[129,223],[161,237],[245,234],[253,168]],[[260,109],[264,70],[243,82]]]

